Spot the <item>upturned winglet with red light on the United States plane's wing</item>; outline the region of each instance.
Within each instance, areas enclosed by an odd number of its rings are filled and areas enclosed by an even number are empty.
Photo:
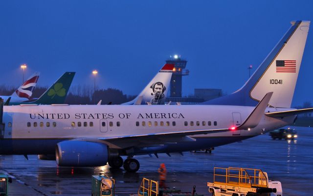
[[[244,123],[237,127],[230,128],[231,130],[240,130],[240,129],[249,129],[256,127],[264,114],[266,107],[268,106],[268,102],[272,97],[273,92],[267,93],[264,98],[258,103],[258,105],[253,109],[251,114],[246,118]]]

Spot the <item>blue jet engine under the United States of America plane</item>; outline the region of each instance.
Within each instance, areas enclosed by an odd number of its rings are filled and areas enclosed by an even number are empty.
[[[108,146],[96,142],[64,141],[57,144],[56,162],[59,166],[97,167],[108,162]]]

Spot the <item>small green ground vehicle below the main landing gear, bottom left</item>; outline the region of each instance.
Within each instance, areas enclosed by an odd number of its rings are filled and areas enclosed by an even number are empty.
[[[115,181],[99,173],[91,177],[91,196],[115,196]]]

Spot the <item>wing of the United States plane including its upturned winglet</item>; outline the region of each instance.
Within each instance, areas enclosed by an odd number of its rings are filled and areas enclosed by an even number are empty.
[[[257,126],[264,114],[264,111],[268,105],[269,99],[272,96],[272,92],[267,93],[265,97],[259,102],[259,104],[253,109],[251,114],[246,118],[244,123],[237,127],[223,128],[223,129],[206,129],[206,130],[184,130],[176,132],[161,132],[161,133],[149,133],[140,135],[124,135],[117,137],[103,137],[97,138],[98,141],[103,141],[109,147],[126,148],[133,146],[146,146],[146,145],[162,145],[169,143],[177,143],[182,141],[195,141],[189,137],[191,135],[208,134],[208,133],[220,133],[226,131],[233,131],[238,129],[248,129]],[[88,140],[88,138],[81,138],[81,140]],[[94,141],[94,140],[93,140]]]

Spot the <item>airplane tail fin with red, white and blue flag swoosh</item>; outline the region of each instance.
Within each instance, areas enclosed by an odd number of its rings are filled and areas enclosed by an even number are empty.
[[[19,98],[28,98],[30,99],[33,90],[36,87],[38,78],[39,78],[40,73],[35,72],[32,74],[23,84],[20,86],[12,95],[11,97],[19,97]]]

